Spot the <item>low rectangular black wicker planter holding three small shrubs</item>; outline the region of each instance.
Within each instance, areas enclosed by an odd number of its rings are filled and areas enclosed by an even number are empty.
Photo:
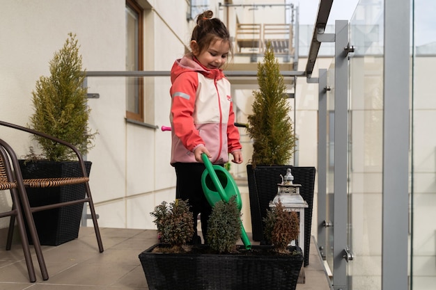
[[[298,247],[296,255],[274,254],[270,245],[227,255],[151,252],[158,245],[139,254],[150,290],[294,290],[303,264]]]

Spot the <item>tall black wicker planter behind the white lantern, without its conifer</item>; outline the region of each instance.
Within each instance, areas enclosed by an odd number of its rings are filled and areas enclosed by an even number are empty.
[[[293,166],[256,166],[247,165],[249,186],[251,227],[254,241],[264,241],[263,218],[266,216],[270,201],[277,194],[277,184],[281,183],[280,175],[286,175],[291,168],[294,184],[301,184],[299,193],[309,207],[304,211],[304,266],[309,265],[309,249],[311,240],[313,191],[315,188],[314,167]]]

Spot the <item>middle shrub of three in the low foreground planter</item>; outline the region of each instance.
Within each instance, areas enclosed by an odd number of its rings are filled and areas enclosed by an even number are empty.
[[[208,220],[208,245],[219,253],[236,251],[241,234],[240,211],[233,195],[228,203],[215,203]]]

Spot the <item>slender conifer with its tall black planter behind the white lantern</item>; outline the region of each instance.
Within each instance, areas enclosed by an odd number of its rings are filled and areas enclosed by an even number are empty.
[[[253,113],[248,116],[247,133],[253,140],[253,156],[247,165],[251,226],[254,241],[265,241],[263,218],[266,217],[269,203],[277,193],[280,175],[290,168],[295,141],[293,122],[290,119],[291,106],[287,99],[286,84],[280,73],[279,62],[274,49],[267,43],[263,63],[258,63],[258,86],[253,92]],[[309,204],[305,212],[305,240],[310,239],[313,189],[315,185],[314,167],[293,167],[296,184],[302,184],[300,194]],[[309,246],[309,241],[305,243]],[[305,265],[309,264],[309,249],[304,249]]]

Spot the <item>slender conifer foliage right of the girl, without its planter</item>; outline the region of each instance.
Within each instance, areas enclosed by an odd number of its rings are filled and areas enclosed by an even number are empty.
[[[286,85],[280,74],[271,43],[267,43],[264,63],[258,63],[259,90],[253,92],[253,114],[248,116],[247,132],[253,140],[251,163],[260,166],[286,165],[293,156],[295,135],[290,120]]]

